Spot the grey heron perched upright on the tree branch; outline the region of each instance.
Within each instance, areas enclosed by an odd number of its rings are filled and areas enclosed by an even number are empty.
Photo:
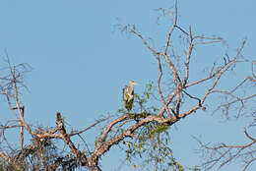
[[[130,81],[128,85],[123,88],[123,100],[124,100],[124,107],[130,111],[133,107],[133,100],[134,100],[134,85],[138,85],[134,81]]]

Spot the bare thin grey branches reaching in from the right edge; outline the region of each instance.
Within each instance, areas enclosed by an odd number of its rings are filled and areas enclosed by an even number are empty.
[[[227,119],[233,115],[238,119],[241,118],[245,108],[252,106],[252,108],[249,108],[245,112],[246,116],[251,118],[251,123],[247,126],[247,128],[244,127],[244,137],[246,140],[243,144],[237,144],[236,142],[233,144],[226,144],[224,142],[219,142],[218,144],[209,144],[198,140],[198,142],[201,144],[201,151],[206,157],[206,161],[203,163],[206,170],[213,170],[214,168],[220,170],[225,165],[230,164],[235,160],[239,160],[243,166],[242,170],[245,171],[250,168],[250,166],[256,160],[256,139],[254,136],[252,136],[253,130],[255,129],[256,114],[256,109],[254,106],[256,97],[256,77],[254,72],[255,66],[255,61],[252,61],[251,76],[245,77],[241,83],[235,85],[231,90],[214,91],[224,94],[225,101],[218,106],[217,110],[221,109]],[[244,88],[246,88],[245,91]],[[243,90],[244,93],[240,93],[240,90]],[[233,108],[235,108],[234,112]],[[250,132],[252,133],[248,133],[247,130],[251,130]]]

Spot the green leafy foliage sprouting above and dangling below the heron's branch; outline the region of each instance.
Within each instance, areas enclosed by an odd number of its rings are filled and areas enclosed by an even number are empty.
[[[142,94],[134,93],[134,107],[133,111],[128,111],[123,107],[118,110],[121,114],[134,117],[136,114],[142,114],[147,117],[149,114],[159,112],[156,106],[148,107],[152,97],[153,83],[145,86]],[[135,112],[134,111],[139,111]],[[139,118],[143,119],[143,117]],[[121,132],[121,128],[119,131]],[[162,170],[162,171],[184,171],[184,167],[174,158],[172,149],[170,147],[170,136],[168,134],[168,126],[159,124],[158,122],[151,122],[140,127],[135,133],[137,139],[124,140],[122,146],[125,148],[126,160],[130,162],[134,168],[138,170],[148,169]],[[143,167],[142,167],[143,166]]]

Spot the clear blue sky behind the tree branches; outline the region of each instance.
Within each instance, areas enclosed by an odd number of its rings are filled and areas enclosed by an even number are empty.
[[[30,92],[23,94],[28,122],[54,126],[55,113],[60,111],[71,127],[83,129],[98,116],[117,111],[122,105],[122,87],[129,80],[140,85],[156,81],[158,68],[151,52],[139,38],[120,33],[115,25],[118,21],[135,24],[161,42],[164,23],[157,26],[154,9],[170,7],[171,0],[1,0],[0,54],[5,56],[7,50],[13,63],[32,66],[26,80]],[[255,60],[255,7],[253,0],[179,0],[178,23],[197,33],[224,37],[230,50],[247,37],[244,54]],[[203,53],[215,57],[214,51]],[[142,91],[143,86],[136,90]],[[6,108],[2,101],[3,120],[8,119],[3,116]],[[194,153],[198,143],[191,136],[202,136],[206,142],[242,138],[245,125],[231,122],[227,127],[220,121],[218,116],[201,112],[178,123],[172,129],[174,156],[184,165],[200,163]],[[94,141],[90,134],[86,139]],[[118,150],[114,152],[101,158],[102,170],[121,164]],[[131,168],[123,166],[122,170]]]

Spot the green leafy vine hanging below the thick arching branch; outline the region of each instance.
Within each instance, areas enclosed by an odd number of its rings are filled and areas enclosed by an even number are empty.
[[[152,122],[138,130],[136,132],[138,139],[123,142],[126,146],[126,160],[133,163],[133,166],[138,169],[147,163],[155,170],[183,171],[183,166],[176,161],[172,154],[167,129],[166,125]],[[139,170],[143,170],[143,168]]]

